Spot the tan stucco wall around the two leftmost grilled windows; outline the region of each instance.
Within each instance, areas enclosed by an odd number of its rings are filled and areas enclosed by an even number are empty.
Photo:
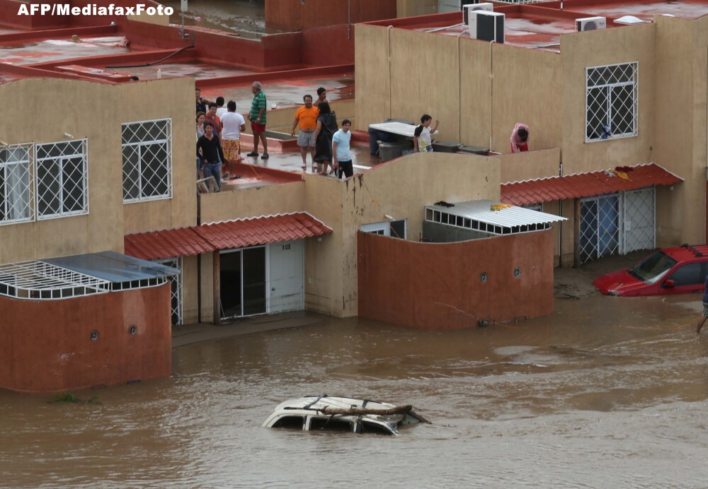
[[[0,122],[6,143],[89,139],[89,215],[0,226],[0,263],[106,249],[122,252],[120,123],[113,110],[98,110],[120,106],[120,90],[101,83],[30,78],[0,85],[0,99],[8,101]],[[97,110],[78,110],[87,100]],[[115,131],[108,131],[110,127]]]

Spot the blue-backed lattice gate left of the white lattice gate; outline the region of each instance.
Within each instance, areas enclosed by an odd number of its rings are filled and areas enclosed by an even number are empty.
[[[581,263],[621,253],[619,248],[621,204],[619,194],[581,199]]]

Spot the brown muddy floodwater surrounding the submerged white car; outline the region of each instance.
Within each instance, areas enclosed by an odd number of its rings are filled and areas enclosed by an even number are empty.
[[[105,389],[100,406],[0,391],[0,485],[706,487],[699,305],[593,296],[443,332],[333,319],[178,348],[171,378]],[[260,428],[321,393],[413,403],[433,424]]]

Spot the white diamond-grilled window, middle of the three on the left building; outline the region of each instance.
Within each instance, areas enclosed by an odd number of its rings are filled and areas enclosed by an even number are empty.
[[[35,145],[37,218],[89,213],[87,139]]]

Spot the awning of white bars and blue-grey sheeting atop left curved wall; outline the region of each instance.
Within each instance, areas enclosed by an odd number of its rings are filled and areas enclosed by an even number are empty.
[[[0,295],[64,299],[112,290],[154,287],[179,271],[115,252],[80,254],[0,265]]]

